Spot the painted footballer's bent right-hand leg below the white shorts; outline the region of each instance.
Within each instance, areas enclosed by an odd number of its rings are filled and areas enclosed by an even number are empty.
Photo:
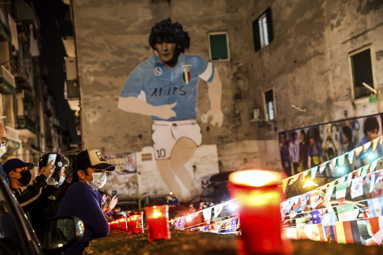
[[[170,168],[173,169],[190,193],[196,187],[193,176],[185,169],[184,165],[193,156],[196,149],[197,146],[194,141],[185,137],[180,138],[173,147],[169,162]]]

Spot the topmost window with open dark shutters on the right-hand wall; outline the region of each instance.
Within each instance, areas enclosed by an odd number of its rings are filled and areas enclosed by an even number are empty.
[[[253,21],[253,36],[255,52],[273,41],[270,7]]]

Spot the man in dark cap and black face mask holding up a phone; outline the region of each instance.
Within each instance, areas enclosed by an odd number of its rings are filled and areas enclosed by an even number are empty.
[[[17,201],[23,207],[24,212],[28,215],[30,220],[29,211],[36,203],[41,195],[43,188],[47,186],[46,180],[51,177],[54,171],[53,161],[49,162],[48,166],[40,170],[40,175],[35,178],[35,181],[27,186],[32,180],[31,169],[34,163],[26,163],[20,159],[8,159],[4,162],[3,168],[8,176],[9,187],[15,195]],[[27,186],[24,191],[21,187]]]

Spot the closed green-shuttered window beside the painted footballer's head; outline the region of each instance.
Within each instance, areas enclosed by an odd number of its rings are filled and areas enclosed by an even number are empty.
[[[227,32],[210,33],[209,45],[211,60],[230,60]]]

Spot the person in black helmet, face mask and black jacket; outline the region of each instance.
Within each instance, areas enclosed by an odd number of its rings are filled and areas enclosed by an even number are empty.
[[[44,154],[38,162],[38,169],[40,171],[47,165],[50,155],[54,156],[54,172],[52,176],[46,180],[48,185],[42,190],[41,196],[37,199],[30,211],[32,227],[37,233],[39,233],[40,225],[44,220],[55,217],[57,214],[57,193],[60,190],[59,186],[62,185],[65,180],[65,167],[69,165],[69,160],[64,155],[47,153]]]

